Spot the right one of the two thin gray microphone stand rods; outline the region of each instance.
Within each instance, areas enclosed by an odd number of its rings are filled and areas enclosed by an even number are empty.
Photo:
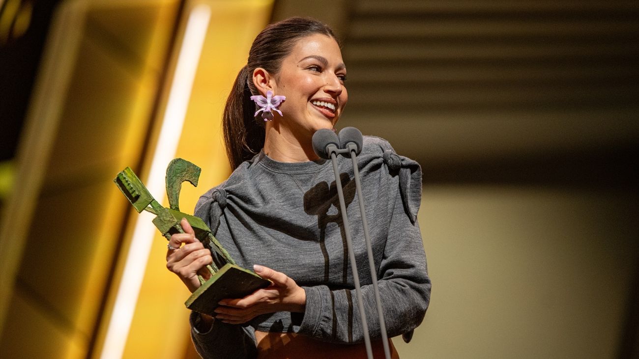
[[[364,210],[364,195],[362,195],[362,185],[360,183],[360,174],[357,165],[357,145],[348,144],[349,154],[353,161],[353,175],[355,177],[355,190],[357,190],[357,200],[359,202],[360,213],[362,214],[362,228],[364,229],[364,241],[366,241],[366,250],[368,254],[368,264],[371,270],[371,279],[373,280],[373,292],[375,293],[375,303],[377,305],[377,314],[380,320],[381,343],[384,346],[384,355],[386,359],[390,359],[389,339],[386,333],[386,322],[384,321],[384,312],[381,309],[380,290],[377,286],[377,273],[375,271],[375,262],[373,259],[373,248],[371,247],[371,236],[368,232],[368,222],[366,220],[366,210]]]

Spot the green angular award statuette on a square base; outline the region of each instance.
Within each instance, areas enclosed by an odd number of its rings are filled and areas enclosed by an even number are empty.
[[[157,216],[153,219],[153,224],[167,240],[171,238],[171,234],[184,233],[180,221],[187,218],[196,238],[211,251],[213,263],[206,266],[211,272],[211,278],[204,280],[200,275],[197,276],[201,286],[185,305],[190,310],[213,315],[220,300],[243,298],[260,288],[270,286],[271,282],[235,264],[201,218],[180,211],[178,201],[182,182],[189,181],[197,187],[200,171],[199,167],[181,158],[175,158],[169,163],[166,169],[166,192],[171,208],[164,208],[156,201],[129,167],[119,172],[113,181],[138,213],[149,211]]]

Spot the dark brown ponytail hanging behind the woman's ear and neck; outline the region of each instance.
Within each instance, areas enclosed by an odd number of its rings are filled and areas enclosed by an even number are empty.
[[[249,73],[244,66],[235,79],[224,106],[222,130],[226,154],[235,170],[245,160],[250,160],[264,147],[265,128],[253,116],[255,104],[250,99]]]

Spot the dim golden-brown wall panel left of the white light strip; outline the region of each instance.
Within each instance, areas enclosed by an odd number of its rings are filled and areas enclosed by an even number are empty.
[[[139,162],[177,5],[64,1],[52,19],[15,162],[16,177],[30,175],[12,191],[27,195],[3,218],[25,234],[4,242],[10,256],[0,250],[17,263],[0,260],[0,297],[11,300],[2,358],[84,358],[91,349],[130,208],[112,178]]]

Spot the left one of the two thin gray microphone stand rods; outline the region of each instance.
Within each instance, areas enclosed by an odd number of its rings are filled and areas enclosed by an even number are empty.
[[[348,216],[346,215],[346,202],[344,201],[344,192],[342,191],[342,180],[339,178],[339,169],[337,169],[337,148],[336,146],[327,146],[331,149],[330,158],[333,163],[333,171],[335,172],[335,185],[337,185],[337,197],[339,197],[339,208],[342,213],[342,221],[344,222],[344,233],[346,235],[346,246],[348,247],[348,257],[351,261],[351,270],[353,271],[353,282],[355,282],[355,293],[357,294],[357,307],[362,318],[362,332],[364,333],[364,344],[366,344],[366,355],[368,359],[373,359],[373,348],[371,348],[371,337],[368,332],[366,323],[366,312],[364,311],[364,299],[362,298],[362,288],[360,287],[359,275],[357,273],[357,262],[355,261],[355,252],[353,252],[353,242],[351,241],[351,229],[348,225]],[[334,147],[334,149],[332,149]],[[386,344],[388,346],[388,343]]]

